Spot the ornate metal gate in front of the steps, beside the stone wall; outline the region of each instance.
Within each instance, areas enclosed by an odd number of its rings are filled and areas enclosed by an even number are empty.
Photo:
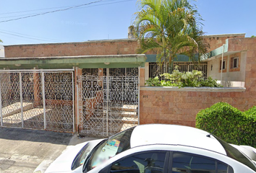
[[[106,68],[78,81],[80,134],[112,136],[138,124],[138,68]]]

